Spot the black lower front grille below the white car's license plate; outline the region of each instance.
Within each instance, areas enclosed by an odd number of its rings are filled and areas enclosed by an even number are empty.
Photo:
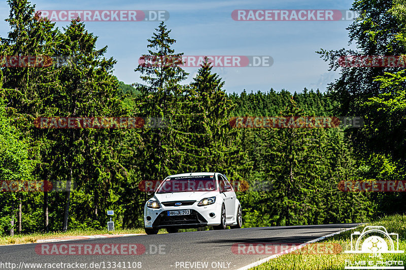
[[[152,226],[164,226],[164,225],[187,225],[187,224],[204,224],[207,220],[200,215],[197,211],[190,209],[190,215],[181,216],[168,216],[167,211],[163,211],[155,219]]]

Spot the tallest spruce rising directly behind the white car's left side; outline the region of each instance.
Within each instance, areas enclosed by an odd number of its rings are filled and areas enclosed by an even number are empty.
[[[175,54],[171,46],[176,42],[169,36],[164,22],[161,22],[153,36],[148,39],[148,55],[146,59],[155,57],[161,59],[158,66],[139,64],[134,71],[141,72],[141,79],[145,84],[137,84],[142,93],[140,110],[143,117],[160,119],[164,128],[145,128],[142,130],[142,147],[139,159],[144,168],[142,180],[163,179],[171,172],[176,172],[177,164],[182,158],[176,149],[180,138],[174,136],[174,128],[184,102],[184,86],[180,83],[186,79],[188,73],[181,67],[179,58],[183,53]],[[168,59],[166,62],[166,59]],[[172,61],[174,60],[175,61]],[[171,121],[169,121],[171,120]],[[149,123],[146,123],[147,127]],[[152,123],[153,124],[153,123]]]

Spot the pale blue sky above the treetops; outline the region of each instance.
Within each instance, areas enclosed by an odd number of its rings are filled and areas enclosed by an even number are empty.
[[[270,67],[215,67],[225,81],[228,93],[251,91],[301,92],[304,87],[325,91],[338,78],[339,71],[328,71],[328,65],[315,51],[348,48],[351,21],[234,21],[231,12],[239,9],[336,9],[348,10],[353,1],[58,1],[33,0],[36,10],[166,10],[171,36],[177,40],[175,52],[185,55],[269,55]],[[0,5],[0,16],[9,16],[6,2]],[[117,60],[114,74],[126,84],[141,82],[134,72],[138,59],[147,53],[147,38],[159,22],[86,22],[86,29],[98,36],[97,48],[108,46],[106,57]],[[57,22],[58,27],[67,22]],[[0,21],[0,35],[9,25]],[[351,46],[351,48],[354,48]],[[191,82],[197,67],[185,68]]]

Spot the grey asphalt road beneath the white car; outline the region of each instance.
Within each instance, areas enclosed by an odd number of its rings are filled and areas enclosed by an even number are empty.
[[[356,225],[258,227],[0,246],[0,269],[238,269],[269,254],[239,254],[243,251],[236,252],[233,244],[305,243]],[[41,267],[29,263],[41,263]]]

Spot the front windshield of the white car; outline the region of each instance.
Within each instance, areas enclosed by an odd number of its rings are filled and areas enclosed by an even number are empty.
[[[156,193],[216,190],[214,175],[180,176],[166,179]]]

